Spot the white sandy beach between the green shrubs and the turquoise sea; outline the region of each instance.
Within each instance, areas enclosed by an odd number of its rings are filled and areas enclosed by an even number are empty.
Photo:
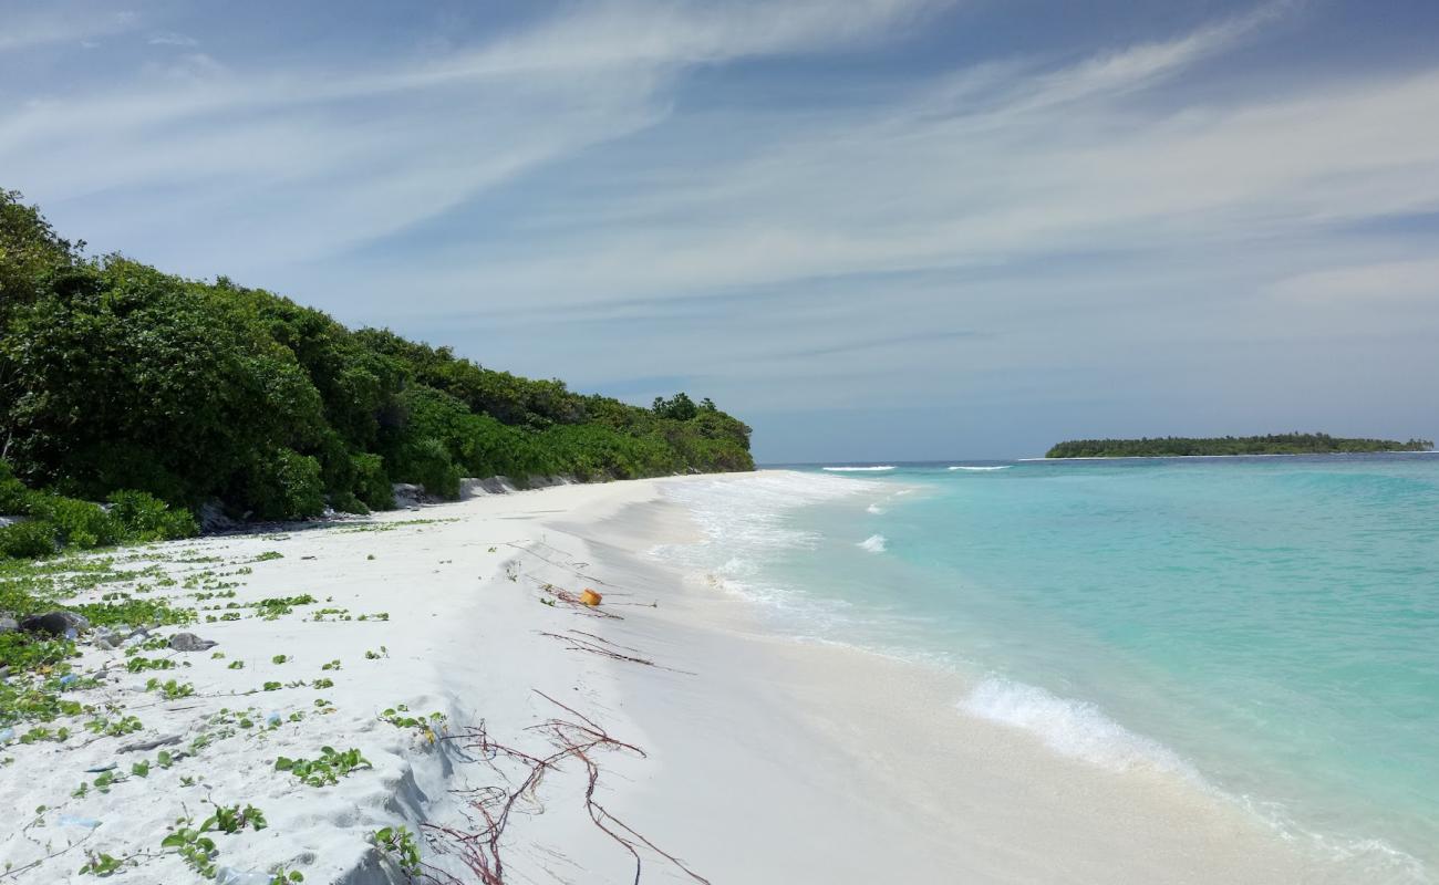
[[[0,803],[14,809],[0,882],[92,881],[76,871],[99,853],[125,862],[124,881],[201,881],[161,840],[212,804],[263,812],[265,829],[210,833],[214,863],[253,882],[276,868],[308,884],[403,882],[400,853],[373,846],[401,825],[432,872],[463,882],[486,881],[466,868],[633,882],[636,863],[643,882],[1324,881],[1190,783],[1088,767],[963,717],[951,675],[767,635],[748,603],[645,554],[702,541],[663,496],[686,481],[124,551],[117,567],[176,581],[137,578],[147,593],[219,606],[181,627],[219,645],[141,652],[177,663],[158,672],[86,648],[78,666],[101,682],[76,699],[141,727],[78,721],[65,743],[0,750]],[[570,602],[587,587],[604,594],[597,610]],[[253,606],[301,594],[315,602],[275,619]],[[204,620],[226,613],[237,619]],[[165,698],[145,688],[154,676],[193,692]],[[367,764],[325,786],[275,767],[325,745]],[[101,790],[88,770],[109,764]],[[481,809],[502,833],[466,842],[494,832]]]

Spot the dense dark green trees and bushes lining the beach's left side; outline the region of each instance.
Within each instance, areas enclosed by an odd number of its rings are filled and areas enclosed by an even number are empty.
[[[281,519],[390,508],[391,482],[745,471],[748,435],[709,400],[584,396],[223,276],[88,258],[0,190],[0,512],[32,517],[0,528],[3,555],[184,537],[210,501]]]

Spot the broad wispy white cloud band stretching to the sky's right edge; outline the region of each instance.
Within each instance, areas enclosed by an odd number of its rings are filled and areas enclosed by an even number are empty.
[[[488,288],[570,302],[1082,250],[1248,250],[1439,207],[1439,69],[1227,105],[1128,101],[1262,20],[1056,72],[1009,69],[1002,85],[986,68],[990,88],[950,91],[944,106],[944,89],[924,89],[878,112],[777,121],[741,161],[635,176],[573,239],[486,256]],[[743,115],[711,125],[758,130]]]

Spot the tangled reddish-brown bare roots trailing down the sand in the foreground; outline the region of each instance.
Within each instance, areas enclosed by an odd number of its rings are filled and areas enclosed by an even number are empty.
[[[517,747],[501,744],[494,740],[485,724],[466,730],[462,734],[448,735],[443,740],[456,741],[463,750],[475,754],[481,761],[489,764],[498,774],[504,774],[499,764],[518,764],[524,777],[518,784],[509,781],[507,787],[482,787],[469,791],[471,820],[478,826],[473,832],[459,827],[422,825],[426,840],[437,852],[449,855],[476,876],[476,879],[460,879],[446,871],[429,863],[425,865],[425,875],[440,885],[469,885],[473,881],[481,885],[504,885],[505,863],[501,855],[501,842],[519,803],[538,803],[540,784],[550,771],[560,770],[567,761],[584,766],[586,789],[584,809],[604,835],[620,845],[635,859],[635,884],[639,885],[643,872],[645,855],[650,853],[679,869],[695,882],[709,885],[709,881],[689,869],[684,861],[665,852],[653,842],[637,833],[633,827],[612,814],[594,797],[600,783],[600,767],[596,755],[602,751],[632,753],[645,757],[645,751],[633,744],[627,744],[612,737],[603,727],[571,707],[555,701],[543,691],[537,695],[555,705],[571,718],[553,717],[531,725],[525,731],[543,735],[548,744],[545,753],[527,753]]]

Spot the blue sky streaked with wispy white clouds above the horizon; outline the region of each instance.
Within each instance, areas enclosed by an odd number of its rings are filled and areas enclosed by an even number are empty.
[[[0,0],[0,187],[761,462],[1439,436],[1433,0]]]

